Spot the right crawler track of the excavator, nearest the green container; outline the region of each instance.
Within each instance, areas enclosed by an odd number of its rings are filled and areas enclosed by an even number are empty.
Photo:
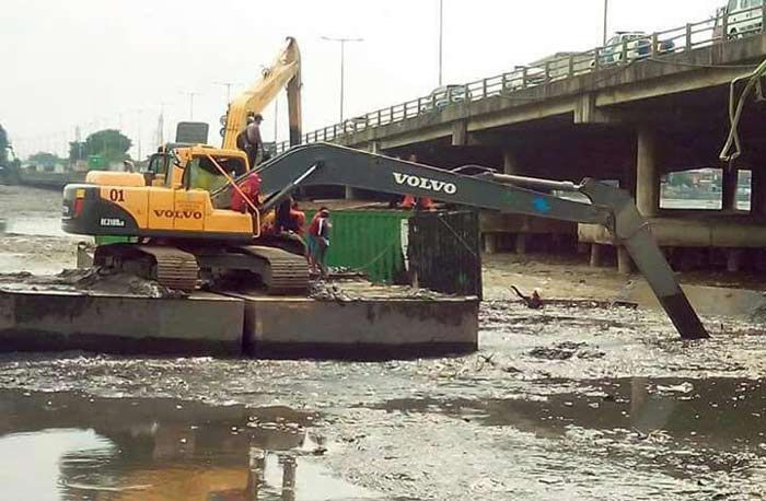
[[[262,245],[246,245],[237,249],[265,261],[260,279],[269,294],[302,293],[309,289],[309,265],[305,257]]]

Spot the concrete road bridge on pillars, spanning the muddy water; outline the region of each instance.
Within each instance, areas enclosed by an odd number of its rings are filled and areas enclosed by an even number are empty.
[[[765,9],[757,8],[759,15]],[[566,53],[510,73],[465,85],[463,98],[420,97],[307,133],[423,163],[478,163],[509,174],[618,182],[652,219],[661,245],[727,249],[738,269],[745,248],[766,246],[766,110],[750,103],[741,124],[743,155],[723,170],[721,211],[660,208],[660,179],[671,172],[720,167],[729,129],[730,83],[766,59],[766,23],[730,25],[730,18],[625,38],[585,53]],[[736,36],[729,33],[736,32]],[[738,170],[752,170],[752,209],[738,211]],[[536,229],[536,230],[535,230]],[[485,218],[488,250],[497,234],[568,233],[553,223]],[[592,261],[611,237],[580,226]],[[624,270],[627,257],[619,253]]]

